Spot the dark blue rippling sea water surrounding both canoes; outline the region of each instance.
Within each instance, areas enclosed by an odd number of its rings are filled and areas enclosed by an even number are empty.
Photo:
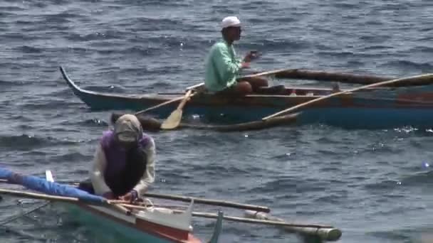
[[[110,111],[92,112],[74,97],[59,65],[93,90],[182,91],[201,82],[219,22],[236,15],[244,24],[239,55],[263,53],[256,70],[418,75],[433,71],[432,10],[429,0],[1,1],[0,165],[33,175],[51,169],[58,180],[86,177]],[[268,205],[287,220],[335,225],[340,242],[427,242],[432,233],[433,172],[424,164],[433,163],[432,131],[314,124],[152,136],[155,192]],[[38,203],[5,198],[1,219]],[[1,229],[1,242],[122,242],[62,215],[45,207],[22,217]],[[194,227],[206,239],[212,221]],[[225,222],[222,242],[303,239]]]

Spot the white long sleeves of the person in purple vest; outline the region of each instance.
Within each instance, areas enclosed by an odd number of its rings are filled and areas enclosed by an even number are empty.
[[[155,182],[156,148],[153,139],[150,139],[149,143],[144,149],[147,155],[146,171],[133,189],[137,191],[139,197],[144,195],[150,185]],[[143,161],[143,163],[145,163],[145,161]],[[103,195],[104,193],[111,191],[107,183],[105,183],[104,178],[106,165],[107,159],[105,158],[104,150],[102,146],[99,145],[96,149],[95,158],[93,159],[93,163],[90,168],[90,180],[92,180],[93,190],[95,190],[96,195]]]

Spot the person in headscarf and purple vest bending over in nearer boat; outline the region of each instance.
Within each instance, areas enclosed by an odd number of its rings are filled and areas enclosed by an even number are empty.
[[[108,199],[133,201],[155,181],[155,142],[132,114],[105,131],[95,152],[90,181],[79,188]]]

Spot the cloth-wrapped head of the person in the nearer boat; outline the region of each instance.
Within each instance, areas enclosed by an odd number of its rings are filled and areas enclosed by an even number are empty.
[[[115,139],[127,148],[137,145],[142,136],[140,121],[133,114],[124,114],[115,122]]]

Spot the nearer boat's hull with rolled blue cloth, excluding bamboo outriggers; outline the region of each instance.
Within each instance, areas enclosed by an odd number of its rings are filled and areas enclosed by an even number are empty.
[[[24,185],[58,198],[74,197],[77,202],[55,202],[66,208],[73,220],[87,224],[90,228],[97,227],[98,231],[115,232],[127,239],[127,242],[155,242],[155,243],[201,243],[202,240],[192,234],[192,208],[194,202],[182,213],[174,214],[165,207],[145,207],[146,210],[123,210],[122,207],[103,205],[105,198],[90,195],[70,185],[53,182],[51,172],[46,173],[46,179],[31,175],[21,175],[0,168],[0,178],[8,178],[11,183]],[[12,179],[11,179],[12,178]],[[88,203],[86,203],[88,202]],[[219,212],[214,231],[206,242],[217,243],[221,234],[223,220]],[[106,234],[106,233],[105,233]]]

